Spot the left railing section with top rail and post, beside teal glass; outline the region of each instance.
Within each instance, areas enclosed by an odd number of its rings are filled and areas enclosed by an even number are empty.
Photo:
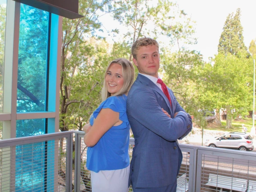
[[[73,132],[0,141],[0,192],[72,191]]]

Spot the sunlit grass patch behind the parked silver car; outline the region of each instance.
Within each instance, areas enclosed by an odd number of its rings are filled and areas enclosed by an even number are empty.
[[[251,132],[252,127],[252,119],[238,119],[238,120],[232,120],[232,128],[226,128],[226,120],[221,120],[222,125],[216,125],[215,123],[210,123],[206,126],[205,129],[208,130],[219,130],[219,131],[236,131],[236,132],[242,132],[242,124],[244,124],[247,127],[247,133]]]

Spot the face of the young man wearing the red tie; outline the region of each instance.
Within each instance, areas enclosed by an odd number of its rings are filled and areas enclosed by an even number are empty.
[[[137,50],[137,59],[133,58],[133,63],[142,74],[151,75],[158,78],[160,58],[158,48],[155,45],[142,46]]]

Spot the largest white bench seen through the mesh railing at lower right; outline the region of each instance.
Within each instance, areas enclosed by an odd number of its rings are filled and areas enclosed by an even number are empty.
[[[247,179],[232,178],[232,177],[227,177],[223,175],[209,174],[208,183],[206,183],[206,185],[209,185],[212,187],[219,187],[220,192],[222,192],[222,189],[230,189],[230,192],[232,192],[232,190],[239,191],[239,192],[246,192]]]

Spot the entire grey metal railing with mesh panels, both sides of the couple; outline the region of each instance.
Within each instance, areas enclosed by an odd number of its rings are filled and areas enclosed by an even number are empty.
[[[91,192],[83,136],[69,131],[1,140],[0,192]],[[130,138],[130,157],[133,145]],[[256,153],[188,144],[180,148],[177,192],[256,192]]]

